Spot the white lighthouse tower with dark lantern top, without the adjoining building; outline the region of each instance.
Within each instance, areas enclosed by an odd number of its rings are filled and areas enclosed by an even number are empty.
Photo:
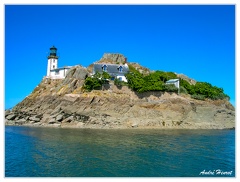
[[[55,70],[58,68],[58,56],[57,56],[57,48],[52,46],[50,48],[50,55],[48,56],[48,67],[47,67],[47,76],[51,76],[51,70]]]

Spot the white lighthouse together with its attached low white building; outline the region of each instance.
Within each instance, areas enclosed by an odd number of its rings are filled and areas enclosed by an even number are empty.
[[[58,56],[57,48],[52,46],[50,48],[50,54],[48,56],[48,65],[47,65],[47,78],[51,79],[63,79],[67,75],[67,71],[71,66],[64,66],[58,68]]]

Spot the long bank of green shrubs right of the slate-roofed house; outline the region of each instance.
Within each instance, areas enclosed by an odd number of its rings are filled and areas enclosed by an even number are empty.
[[[128,86],[137,92],[147,91],[167,91],[176,92],[177,88],[164,83],[167,80],[177,78],[173,72],[155,71],[146,76],[141,74],[133,66],[129,65],[129,73],[126,74]],[[228,95],[224,94],[222,88],[212,86],[207,82],[197,82],[191,85],[188,81],[180,78],[180,92],[190,94],[192,98],[204,100],[205,98],[216,99],[230,99]]]

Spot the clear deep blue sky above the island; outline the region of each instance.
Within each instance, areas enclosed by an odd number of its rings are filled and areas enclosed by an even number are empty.
[[[122,53],[221,87],[235,105],[234,5],[5,5],[5,108],[46,75],[52,45],[60,67]]]

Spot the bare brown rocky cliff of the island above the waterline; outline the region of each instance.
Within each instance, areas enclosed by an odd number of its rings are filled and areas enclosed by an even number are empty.
[[[116,61],[120,58],[114,57]],[[109,59],[109,56],[102,59]],[[5,112],[6,125],[163,129],[235,127],[235,109],[226,100],[199,101],[187,95],[161,92],[138,94],[113,83],[108,90],[84,92],[82,86],[88,75],[87,68],[75,66],[63,80],[44,78],[12,111]]]

